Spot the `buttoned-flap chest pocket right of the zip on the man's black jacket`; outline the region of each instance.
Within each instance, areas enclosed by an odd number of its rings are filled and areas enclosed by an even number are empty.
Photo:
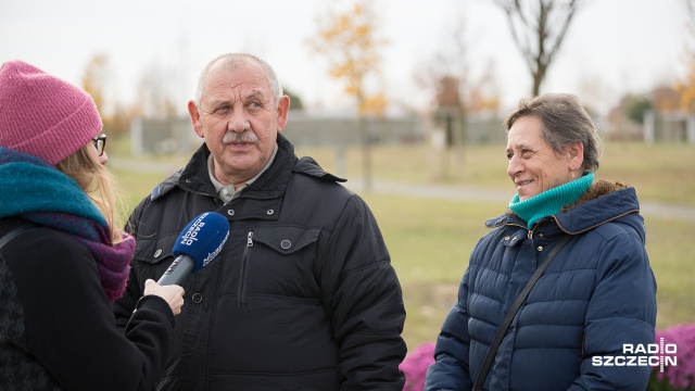
[[[320,229],[255,227],[248,232],[242,278],[247,294],[315,298]]]

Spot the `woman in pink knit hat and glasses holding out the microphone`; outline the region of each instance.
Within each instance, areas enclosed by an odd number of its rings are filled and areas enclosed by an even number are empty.
[[[116,228],[101,128],[81,89],[0,67],[3,390],[148,390],[170,352],[181,287],[148,280],[125,336],[114,323],[135,241]]]

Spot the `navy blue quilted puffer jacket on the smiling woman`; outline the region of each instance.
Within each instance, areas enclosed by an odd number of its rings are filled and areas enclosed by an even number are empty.
[[[603,366],[623,344],[654,343],[656,280],[633,188],[597,180],[536,223],[505,214],[473,249],[437,341],[426,390],[469,390],[511,303],[561,236],[557,254],[505,336],[486,390],[644,390],[648,366]],[[599,360],[593,357],[601,357]]]

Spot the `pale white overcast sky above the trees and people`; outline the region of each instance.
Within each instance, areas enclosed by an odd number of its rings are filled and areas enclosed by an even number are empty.
[[[586,1],[586,0],[585,0]],[[181,108],[200,70],[218,54],[247,51],[274,66],[305,105],[345,108],[340,85],[307,39],[328,7],[349,0],[0,0],[0,62],[20,59],[72,83],[91,58],[109,59],[108,96],[130,102],[139,77],[161,70]],[[442,50],[453,25],[465,23],[473,77],[489,60],[505,108],[531,90],[502,11],[492,0],[376,0],[383,74],[392,102],[424,105],[430,98],[415,72]],[[463,15],[463,17],[462,17]],[[607,110],[623,92],[645,92],[683,73],[684,0],[587,0],[577,14],[543,91],[572,92]],[[597,86],[589,89],[587,84]]]

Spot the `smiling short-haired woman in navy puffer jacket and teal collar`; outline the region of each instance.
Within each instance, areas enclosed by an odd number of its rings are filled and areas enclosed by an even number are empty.
[[[632,358],[630,346],[654,343],[656,280],[634,189],[594,180],[599,140],[571,94],[521,100],[505,127],[518,193],[485,223],[493,229],[472,251],[425,389],[472,389],[513,302],[570,235],[514,318],[484,389],[644,390],[649,358]]]

